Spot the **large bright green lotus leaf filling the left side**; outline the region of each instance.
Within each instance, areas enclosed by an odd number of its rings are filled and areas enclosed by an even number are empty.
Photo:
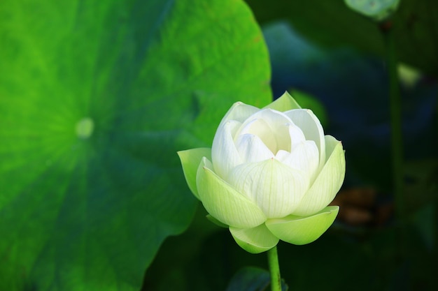
[[[0,290],[139,290],[196,200],[177,150],[270,102],[241,1],[0,3]]]

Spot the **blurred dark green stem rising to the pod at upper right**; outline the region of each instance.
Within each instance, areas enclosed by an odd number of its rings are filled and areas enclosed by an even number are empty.
[[[382,24],[381,30],[386,43],[386,65],[389,74],[391,158],[393,172],[393,191],[395,195],[395,213],[398,221],[405,214],[403,197],[403,140],[402,140],[402,103],[397,77],[397,55],[393,29],[390,22]]]

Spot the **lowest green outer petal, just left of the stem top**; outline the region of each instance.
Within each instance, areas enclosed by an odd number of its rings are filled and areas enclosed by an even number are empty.
[[[269,251],[278,244],[278,238],[262,224],[253,228],[229,227],[236,243],[249,253]]]

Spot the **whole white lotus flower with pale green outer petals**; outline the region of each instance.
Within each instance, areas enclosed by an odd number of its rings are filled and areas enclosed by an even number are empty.
[[[327,205],[344,181],[342,144],[287,92],[262,109],[235,103],[211,149],[178,155],[210,218],[250,253],[268,251],[279,239],[309,244],[339,211]]]

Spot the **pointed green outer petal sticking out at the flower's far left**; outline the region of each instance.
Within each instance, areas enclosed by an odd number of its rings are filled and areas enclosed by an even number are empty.
[[[208,147],[200,147],[197,149],[178,151],[178,156],[181,160],[181,165],[183,165],[185,181],[187,181],[187,184],[193,195],[199,199],[196,186],[196,173],[199,163],[201,163],[201,160],[204,156],[211,159],[211,149]]]

